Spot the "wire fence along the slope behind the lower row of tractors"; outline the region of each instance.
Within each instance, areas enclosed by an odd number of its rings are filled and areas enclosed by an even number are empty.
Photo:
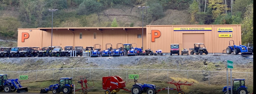
[[[229,73],[230,71],[228,71]],[[54,68],[32,71],[0,71],[8,78],[19,78],[19,75],[28,75],[22,82],[59,79],[60,77],[86,76],[88,79],[101,80],[103,76],[118,75],[126,82],[129,74],[138,74],[139,80],[144,81],[171,81],[172,77],[185,77],[197,80],[200,83],[212,85],[226,85],[226,71],[178,70],[178,69],[130,69],[130,68]],[[230,75],[229,75],[230,76]],[[244,78],[248,85],[253,85],[253,72],[232,71],[232,78]],[[230,77],[228,78],[230,79]]]

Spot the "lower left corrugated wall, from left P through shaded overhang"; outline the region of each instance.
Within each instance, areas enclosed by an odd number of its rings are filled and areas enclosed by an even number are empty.
[[[111,43],[113,48],[116,48],[116,43],[136,43],[137,47],[141,47],[142,38],[137,38],[137,34],[142,34],[142,28],[128,28],[126,30],[115,29],[53,29],[52,31],[52,46],[94,46],[101,44],[101,49],[105,49],[106,43]],[[51,45],[51,29],[46,31],[34,29],[38,32],[29,32],[29,29],[20,29],[18,31],[18,46],[39,46],[47,47]],[[21,32],[28,32],[29,38],[25,42],[21,42]],[[82,37],[80,38],[80,32]],[[94,34],[96,33],[96,38]],[[143,45],[146,43],[146,29],[144,28]],[[36,40],[36,41],[35,41]],[[38,41],[37,41],[38,40]],[[108,45],[107,47],[109,47]],[[120,46],[120,45],[119,45]],[[135,46],[135,44],[133,45]],[[96,47],[99,47],[98,45]],[[145,48],[145,47],[144,47]]]

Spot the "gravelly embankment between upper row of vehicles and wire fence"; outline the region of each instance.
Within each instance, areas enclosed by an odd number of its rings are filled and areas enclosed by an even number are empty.
[[[234,62],[233,71],[253,72],[253,56],[173,55],[120,57],[0,57],[0,70],[27,71],[51,68],[148,68],[224,71],[226,60]]]

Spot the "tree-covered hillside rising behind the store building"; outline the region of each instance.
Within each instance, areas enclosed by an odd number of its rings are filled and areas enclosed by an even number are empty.
[[[253,0],[0,0],[0,38],[17,28],[241,24],[242,43],[253,43]],[[232,7],[231,7],[232,6]]]

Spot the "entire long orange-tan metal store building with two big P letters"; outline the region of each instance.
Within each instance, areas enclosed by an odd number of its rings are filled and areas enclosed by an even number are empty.
[[[136,43],[142,46],[142,27],[54,27],[52,46],[93,46],[106,43]],[[152,34],[154,33],[154,34]],[[18,46],[50,46],[51,27],[18,28]],[[221,53],[234,40],[241,43],[241,25],[146,25],[143,27],[143,48],[170,51],[170,44],[192,48],[193,43],[204,43],[209,53]],[[99,47],[99,46],[96,46]],[[107,46],[109,47],[109,46]]]

